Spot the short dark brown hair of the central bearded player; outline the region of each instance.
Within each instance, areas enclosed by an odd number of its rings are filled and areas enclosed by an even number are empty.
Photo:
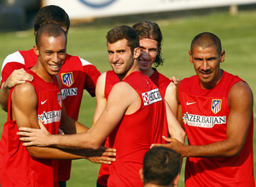
[[[139,37],[131,26],[115,26],[112,30],[108,31],[107,41],[109,43],[117,42],[121,39],[128,41],[128,46],[131,48],[132,54],[134,48],[139,48]]]

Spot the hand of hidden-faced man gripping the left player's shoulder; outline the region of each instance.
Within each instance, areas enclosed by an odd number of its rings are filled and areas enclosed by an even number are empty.
[[[3,88],[13,88],[17,84],[32,82],[33,77],[27,73],[23,68],[13,71],[8,79],[4,82]]]

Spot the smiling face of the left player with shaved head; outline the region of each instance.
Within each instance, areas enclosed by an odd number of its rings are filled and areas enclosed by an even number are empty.
[[[34,46],[38,55],[38,67],[43,67],[37,68],[37,73],[45,81],[51,82],[61,71],[61,65],[66,58],[66,42],[64,32],[58,37],[49,37],[43,33],[38,46]]]

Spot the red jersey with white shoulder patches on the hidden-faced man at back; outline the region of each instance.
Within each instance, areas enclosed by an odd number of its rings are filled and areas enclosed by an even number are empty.
[[[6,81],[12,71],[20,68],[29,69],[37,63],[38,56],[33,49],[28,51],[16,51],[9,54],[3,61],[1,72],[1,84]],[[86,89],[91,96],[95,96],[96,81],[101,75],[95,65],[88,61],[67,54],[64,64],[61,66],[61,98],[66,107],[67,115],[78,120],[79,109]],[[71,161],[60,161],[60,181],[70,178]],[[62,167],[63,166],[63,167]]]

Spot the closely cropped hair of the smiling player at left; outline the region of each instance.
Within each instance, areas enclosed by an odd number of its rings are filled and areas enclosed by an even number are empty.
[[[38,48],[41,45],[41,37],[43,34],[46,34],[48,37],[59,37],[61,36],[61,34],[64,34],[67,43],[67,35],[65,31],[61,28],[61,26],[54,23],[48,23],[38,28],[36,34],[36,45],[38,46]]]

